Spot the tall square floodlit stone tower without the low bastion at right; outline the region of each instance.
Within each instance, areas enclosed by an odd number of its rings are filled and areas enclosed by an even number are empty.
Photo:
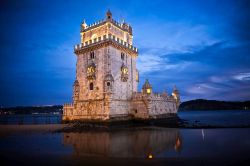
[[[139,81],[131,26],[116,22],[107,11],[104,20],[91,25],[83,21],[80,35],[81,44],[74,49],[73,104],[65,105],[64,118],[127,118]]]

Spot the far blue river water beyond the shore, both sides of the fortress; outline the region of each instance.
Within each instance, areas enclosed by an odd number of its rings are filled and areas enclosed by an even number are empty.
[[[215,126],[250,125],[250,111],[185,111],[178,116],[190,124]],[[0,124],[58,124],[62,115],[0,115]]]

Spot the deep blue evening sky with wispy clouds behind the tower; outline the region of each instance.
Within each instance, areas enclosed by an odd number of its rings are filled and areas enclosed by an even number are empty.
[[[1,0],[0,105],[71,102],[80,23],[132,25],[140,85],[182,101],[250,99],[250,1]]]

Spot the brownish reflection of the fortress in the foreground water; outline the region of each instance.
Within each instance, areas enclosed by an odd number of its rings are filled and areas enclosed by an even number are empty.
[[[121,132],[64,133],[63,144],[72,146],[73,155],[153,158],[166,151],[181,151],[178,129]]]

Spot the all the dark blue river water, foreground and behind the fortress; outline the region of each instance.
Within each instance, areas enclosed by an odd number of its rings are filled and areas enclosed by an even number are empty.
[[[247,111],[191,111],[180,112],[179,117],[200,124],[250,124]],[[61,122],[61,115],[11,115],[0,119],[1,124],[56,124]],[[249,165],[249,159],[250,128],[151,126],[0,134],[0,160],[6,165]]]

